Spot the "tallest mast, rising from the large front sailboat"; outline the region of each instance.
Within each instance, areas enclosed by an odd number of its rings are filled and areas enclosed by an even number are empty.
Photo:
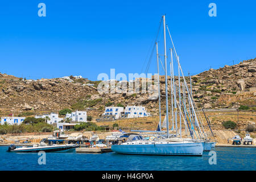
[[[167,59],[166,59],[166,16],[163,15],[163,31],[164,31],[164,67],[166,77],[166,127],[167,138],[169,138],[169,122],[168,122],[168,88],[167,88]]]

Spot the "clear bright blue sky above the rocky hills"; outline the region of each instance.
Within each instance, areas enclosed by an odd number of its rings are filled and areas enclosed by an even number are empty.
[[[38,16],[40,2],[46,4],[46,17]],[[211,2],[217,5],[217,17],[208,15]],[[3,1],[0,72],[33,79],[82,75],[90,80],[97,80],[99,73],[110,75],[110,68],[115,73],[145,72],[160,18],[166,14],[183,72],[195,75],[256,57],[255,7],[255,1],[246,0]],[[155,57],[149,73],[156,72]]]

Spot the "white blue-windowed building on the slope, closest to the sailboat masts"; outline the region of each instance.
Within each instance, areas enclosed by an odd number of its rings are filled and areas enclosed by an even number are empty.
[[[128,114],[127,118],[138,118],[138,117],[150,116],[150,113],[147,113],[145,107],[143,106],[127,106],[125,107],[125,114]]]

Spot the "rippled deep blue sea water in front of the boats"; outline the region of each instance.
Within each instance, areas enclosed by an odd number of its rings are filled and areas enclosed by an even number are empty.
[[[46,164],[38,164],[39,155],[6,152],[0,147],[2,170],[253,170],[256,148],[216,147],[217,164],[209,164],[209,152],[203,156],[154,156],[46,153]]]

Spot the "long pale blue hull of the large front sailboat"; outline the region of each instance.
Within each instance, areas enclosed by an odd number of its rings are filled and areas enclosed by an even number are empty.
[[[203,143],[120,144],[112,146],[112,151],[118,154],[201,156],[203,150]]]

